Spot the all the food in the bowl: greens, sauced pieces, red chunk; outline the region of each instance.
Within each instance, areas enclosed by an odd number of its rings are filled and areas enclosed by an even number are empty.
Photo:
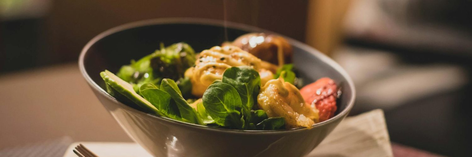
[[[293,50],[278,35],[244,34],[195,52],[162,43],[116,72],[100,73],[107,92],[145,112],[173,120],[236,130],[312,128],[335,115],[337,84],[297,76]]]

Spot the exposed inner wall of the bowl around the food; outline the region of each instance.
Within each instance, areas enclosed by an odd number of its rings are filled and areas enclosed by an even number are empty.
[[[241,25],[228,25],[225,28],[218,24],[202,22],[161,22],[144,25],[122,26],[102,33],[95,42],[91,41],[84,49],[83,58],[85,73],[93,83],[106,93],[105,83],[100,72],[105,69],[116,73],[122,65],[130,63],[131,59],[139,59],[159,49],[160,43],[170,45],[176,42],[190,44],[196,52],[220,45],[228,38],[229,41],[250,32],[267,32],[258,28]],[[346,110],[353,101],[353,86],[348,76],[334,61],[301,42],[287,38],[294,48],[294,64],[299,70],[304,83],[312,83],[321,77],[334,79],[342,91],[337,102],[337,115]],[[83,52],[84,53],[84,52]],[[90,81],[90,80],[89,80]],[[123,102],[123,101],[122,101]],[[134,104],[126,104],[137,110]]]

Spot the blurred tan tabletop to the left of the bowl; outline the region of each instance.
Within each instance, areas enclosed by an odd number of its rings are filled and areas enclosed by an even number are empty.
[[[132,140],[108,114],[76,63],[0,76],[0,149],[70,136]]]

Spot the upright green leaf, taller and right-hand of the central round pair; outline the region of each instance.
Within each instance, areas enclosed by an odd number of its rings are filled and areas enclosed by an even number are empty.
[[[248,125],[251,118],[250,111],[261,88],[259,73],[250,66],[230,67],[223,73],[222,82],[233,86],[238,92],[243,104],[242,112],[247,123],[245,125]]]

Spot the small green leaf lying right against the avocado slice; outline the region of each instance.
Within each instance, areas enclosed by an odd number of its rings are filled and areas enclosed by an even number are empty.
[[[154,107],[161,111],[163,116],[179,121],[182,119],[175,102],[170,100],[169,93],[157,89],[152,83],[144,83],[140,87],[139,92],[143,95],[144,99],[151,102]]]

